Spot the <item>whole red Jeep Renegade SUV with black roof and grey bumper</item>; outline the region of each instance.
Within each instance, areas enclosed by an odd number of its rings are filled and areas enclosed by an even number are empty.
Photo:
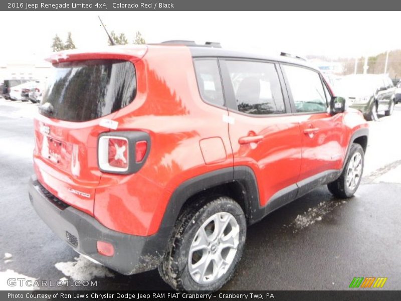
[[[56,53],[29,196],[77,252],[175,289],[233,275],[247,225],[359,186],[368,126],[318,70],[217,43]]]

